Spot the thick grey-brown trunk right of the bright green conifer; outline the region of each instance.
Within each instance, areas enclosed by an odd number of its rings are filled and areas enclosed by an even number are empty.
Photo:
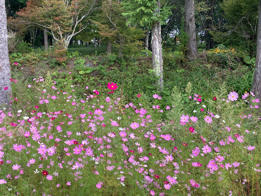
[[[185,0],[185,32],[188,34],[187,55],[191,59],[197,56],[196,26],[194,13],[194,0]]]

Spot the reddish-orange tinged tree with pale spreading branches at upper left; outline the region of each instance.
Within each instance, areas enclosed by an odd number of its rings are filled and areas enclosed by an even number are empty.
[[[29,0],[17,14],[23,22],[46,29],[61,49],[67,49],[70,39],[88,26],[96,4],[96,0]]]

